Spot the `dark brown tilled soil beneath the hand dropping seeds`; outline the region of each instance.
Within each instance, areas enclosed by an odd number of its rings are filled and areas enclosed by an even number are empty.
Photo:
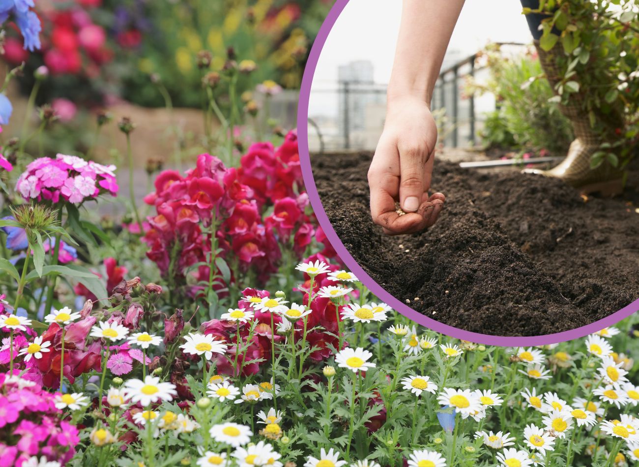
[[[468,331],[535,336],[639,297],[639,170],[624,196],[585,201],[559,180],[436,161],[433,191],[447,196],[438,222],[388,237],[370,217],[370,161],[314,156],[319,196],[353,258],[414,310]]]

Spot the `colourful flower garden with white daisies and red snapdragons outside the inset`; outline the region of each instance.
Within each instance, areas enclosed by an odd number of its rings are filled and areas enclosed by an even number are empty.
[[[165,19],[179,10],[169,4]],[[143,44],[152,25],[137,10],[105,19],[107,2],[38,15],[29,0],[0,4],[6,61],[33,52],[3,88],[15,80],[31,98],[22,131],[0,135],[0,466],[638,461],[635,318],[573,342],[486,347],[415,328],[344,270],[304,191],[295,130],[254,119],[277,83],[298,84],[305,45],[295,40],[308,19],[296,4],[258,6],[233,8],[249,29],[224,28],[249,45],[245,36],[277,29],[279,47],[178,47],[206,132],[180,149],[187,170],[151,164],[140,202],[130,140],[144,122],[84,109],[96,136],[118,126],[123,163],[93,157],[99,138],[61,154],[47,136],[64,134],[69,106],[48,99],[66,99],[65,82],[95,85],[109,47]],[[77,56],[64,53],[75,40]],[[253,75],[260,69],[273,75]],[[167,83],[160,99],[174,93],[171,79],[155,80]],[[264,93],[264,107],[240,91]],[[12,111],[0,94],[1,125]],[[119,216],[102,212],[111,205]]]

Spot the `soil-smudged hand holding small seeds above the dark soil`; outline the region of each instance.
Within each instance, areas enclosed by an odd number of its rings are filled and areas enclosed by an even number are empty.
[[[387,235],[435,224],[446,197],[431,196],[437,125],[423,99],[389,101],[386,123],[368,171],[373,222]],[[395,203],[406,213],[400,216]]]

